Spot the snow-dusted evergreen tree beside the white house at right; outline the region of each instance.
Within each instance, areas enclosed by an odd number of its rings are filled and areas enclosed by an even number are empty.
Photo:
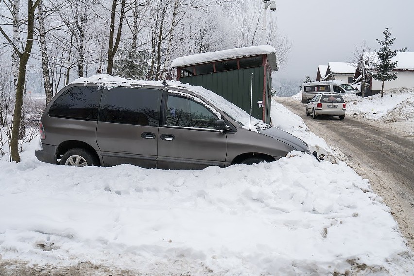
[[[397,55],[397,52],[405,52],[407,49],[400,49],[400,50],[391,50],[391,45],[393,45],[394,38],[391,37],[391,33],[388,28],[385,29],[383,32],[384,40],[377,39],[378,44],[381,45],[379,51],[375,51],[378,56],[378,63],[374,63],[374,74],[372,77],[378,81],[382,81],[382,90],[381,90],[381,98],[384,96],[384,84],[386,81],[392,81],[398,78],[397,72],[393,72],[394,69],[397,67],[397,61],[391,62],[391,58]]]

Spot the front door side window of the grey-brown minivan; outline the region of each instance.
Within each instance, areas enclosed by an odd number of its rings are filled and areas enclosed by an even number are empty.
[[[202,104],[181,96],[168,94],[166,126],[214,128],[216,115]]]

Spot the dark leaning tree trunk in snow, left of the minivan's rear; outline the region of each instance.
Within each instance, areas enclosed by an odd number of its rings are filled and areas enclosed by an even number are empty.
[[[28,0],[28,17],[27,17],[27,41],[24,48],[24,52],[20,57],[19,62],[19,74],[17,79],[17,88],[16,88],[16,103],[15,109],[13,112],[13,124],[12,124],[12,137],[10,139],[10,151],[12,160],[16,163],[20,162],[19,148],[18,148],[18,138],[19,130],[21,124],[21,114],[23,106],[23,93],[26,83],[26,66],[29,61],[30,52],[32,51],[33,46],[33,29],[34,29],[34,18],[35,10],[37,5],[41,0],[36,0],[33,3],[33,0]]]

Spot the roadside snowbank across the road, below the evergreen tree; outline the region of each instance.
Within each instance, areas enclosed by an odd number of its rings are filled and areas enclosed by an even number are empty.
[[[411,106],[414,101],[414,89],[390,89],[384,91],[383,98],[381,98],[381,94],[365,98],[347,94],[344,95],[344,99],[347,103],[347,114],[361,115],[366,119],[378,121],[414,119]]]

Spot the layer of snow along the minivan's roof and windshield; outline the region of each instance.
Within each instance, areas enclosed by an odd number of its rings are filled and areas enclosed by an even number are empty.
[[[236,106],[233,103],[230,103],[228,100],[224,99],[222,96],[217,95],[216,93],[207,90],[201,86],[193,86],[190,84],[183,84],[178,81],[143,81],[143,80],[131,80],[125,79],[118,76],[112,76],[108,74],[94,75],[88,78],[78,78],[74,80],[71,84],[102,84],[105,86],[165,86],[166,88],[180,88],[192,92],[194,95],[199,96],[200,98],[206,99],[210,104],[213,104],[214,108],[223,111],[233,120],[239,122],[242,127],[249,128],[249,125],[256,125],[256,128],[252,130],[257,131],[260,128],[269,127],[268,124],[263,121],[252,117],[250,123],[250,115],[247,114],[240,107]]]

